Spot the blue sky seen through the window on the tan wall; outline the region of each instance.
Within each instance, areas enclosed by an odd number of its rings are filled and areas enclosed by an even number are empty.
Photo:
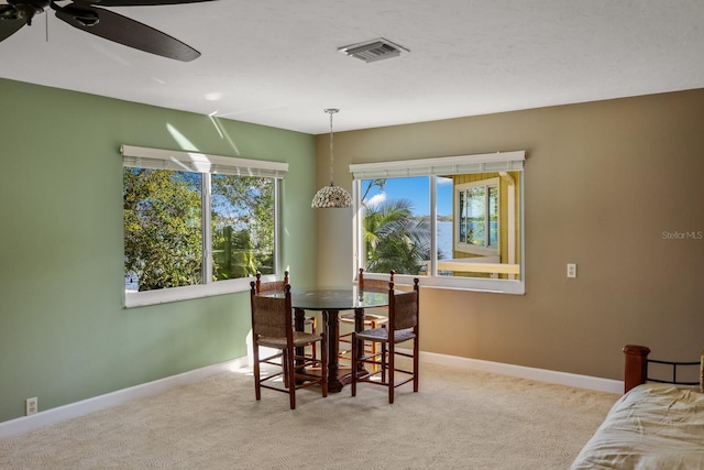
[[[452,181],[449,178],[438,178],[438,215],[452,215]],[[362,194],[366,190],[367,181],[362,182]],[[386,199],[405,198],[410,199],[414,214],[427,216],[430,214],[429,178],[419,176],[414,178],[389,178],[386,179],[384,192],[378,187],[372,188],[367,195],[367,200],[372,204]]]

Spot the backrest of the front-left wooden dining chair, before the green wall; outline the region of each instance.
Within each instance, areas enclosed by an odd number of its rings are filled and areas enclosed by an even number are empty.
[[[284,286],[283,296],[263,296],[256,293],[254,282],[250,297],[252,302],[252,332],[268,338],[287,338],[293,336],[293,309],[290,304],[290,285]]]

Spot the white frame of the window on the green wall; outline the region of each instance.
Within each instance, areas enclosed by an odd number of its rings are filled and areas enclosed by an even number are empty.
[[[221,155],[209,155],[200,152],[170,151],[122,145],[122,166],[152,170],[170,170],[202,174],[201,233],[204,237],[204,272],[212,266],[212,247],[210,233],[210,176],[213,174],[231,174],[241,176],[274,178],[274,274],[264,275],[264,281],[274,280],[283,271],[280,255],[280,189],[282,181],[288,172],[288,163],[239,159]],[[123,237],[124,239],[124,237]],[[212,281],[205,275],[202,284],[166,287],[155,291],[132,292],[123,286],[123,307],[134,308],[170,302],[188,300],[213,295],[231,294],[250,289],[253,276],[235,280]]]

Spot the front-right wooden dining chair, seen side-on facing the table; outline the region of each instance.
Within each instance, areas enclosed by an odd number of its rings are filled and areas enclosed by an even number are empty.
[[[374,328],[352,334],[352,370],[360,371],[362,364],[373,364],[381,370],[352,374],[352,396],[356,396],[359,382],[384,385],[388,387],[388,403],[394,403],[394,390],[405,383],[414,383],[414,392],[418,392],[418,277],[414,278],[410,292],[396,292],[392,283],[388,289],[388,325],[386,328]],[[359,342],[367,341],[381,345],[381,352],[374,356],[360,357]],[[413,341],[410,352],[396,349],[396,345]],[[397,363],[396,357],[413,360],[413,371],[407,364]],[[397,373],[403,374],[397,380]]]

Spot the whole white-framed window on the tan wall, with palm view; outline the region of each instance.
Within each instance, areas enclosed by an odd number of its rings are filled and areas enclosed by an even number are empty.
[[[350,165],[355,260],[421,284],[525,293],[525,152]]]

